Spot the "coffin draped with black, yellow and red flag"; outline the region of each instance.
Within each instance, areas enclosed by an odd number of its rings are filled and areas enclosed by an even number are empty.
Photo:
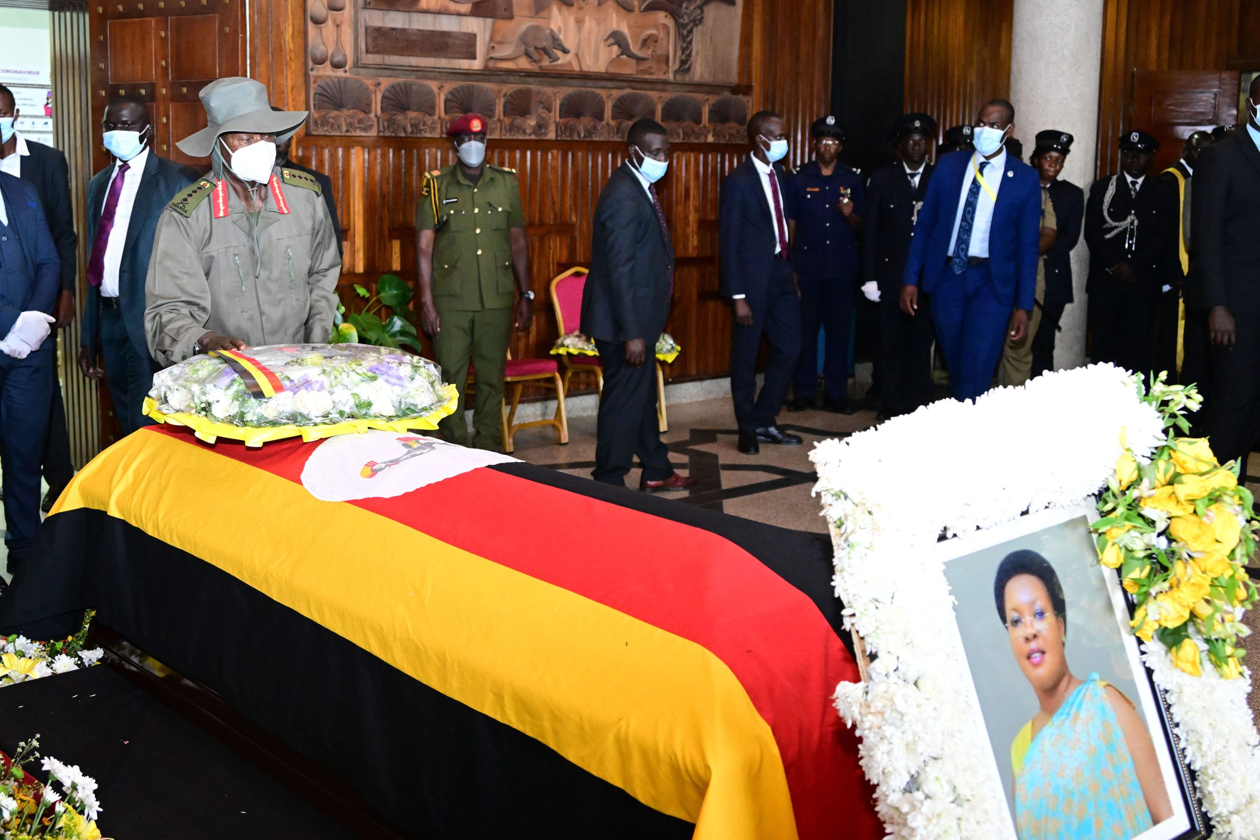
[[[368,432],[141,429],[0,598],[209,686],[410,836],[883,836],[825,536]]]

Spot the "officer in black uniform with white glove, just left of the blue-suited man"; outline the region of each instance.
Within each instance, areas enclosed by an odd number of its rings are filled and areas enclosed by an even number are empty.
[[[893,135],[901,160],[871,174],[862,249],[863,292],[869,296],[873,283],[879,302],[882,418],[906,414],[931,400],[935,340],[927,295],[920,295],[914,315],[901,311],[900,296],[915,218],[935,169],[927,162],[927,150],[936,136],[936,121],[926,113],[907,113],[897,120]]]

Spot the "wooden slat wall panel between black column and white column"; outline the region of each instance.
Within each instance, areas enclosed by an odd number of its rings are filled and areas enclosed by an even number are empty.
[[[905,110],[930,113],[944,136],[1008,97],[1013,15],[1014,0],[907,0]]]

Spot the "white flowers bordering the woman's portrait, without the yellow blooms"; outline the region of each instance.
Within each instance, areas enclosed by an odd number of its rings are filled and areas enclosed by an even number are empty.
[[[837,686],[857,728],[876,806],[897,839],[1002,836],[1005,803],[979,759],[988,749],[968,671],[945,633],[954,622],[937,538],[969,534],[1046,508],[1080,504],[1108,484],[1125,443],[1143,461],[1164,442],[1140,382],[1113,365],[1048,373],[974,404],[942,400],[810,458],[835,548],[845,626],[873,657],[864,681]],[[1081,407],[1065,429],[1065,408]],[[1047,453],[1038,442],[1055,441]],[[910,485],[906,476],[922,480]],[[1250,675],[1194,678],[1163,645],[1144,659],[1197,773],[1220,839],[1260,836],[1260,737],[1246,705]]]

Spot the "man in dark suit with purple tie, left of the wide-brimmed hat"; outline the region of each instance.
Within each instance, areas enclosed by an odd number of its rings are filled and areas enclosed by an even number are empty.
[[[158,218],[197,173],[152,151],[149,110],[140,99],[115,98],[101,127],[113,162],[87,185],[91,251],[79,369],[92,379],[105,377],[118,426],[130,434],[150,423],[141,413],[154,373],[145,343],[145,277]]]

